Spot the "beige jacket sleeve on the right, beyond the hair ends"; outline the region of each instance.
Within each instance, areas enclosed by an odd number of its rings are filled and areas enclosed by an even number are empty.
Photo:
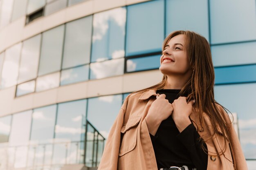
[[[220,106],[221,107],[221,106]],[[236,161],[236,170],[248,170],[247,163],[245,160],[245,156],[243,154],[243,150],[241,144],[238,139],[238,135],[234,129],[233,124],[231,124],[231,120],[224,108],[220,108],[222,111],[222,115],[224,116],[225,121],[227,122],[227,126],[229,129],[229,133],[231,136],[231,144],[234,151],[233,159]],[[231,126],[229,126],[231,124]]]

